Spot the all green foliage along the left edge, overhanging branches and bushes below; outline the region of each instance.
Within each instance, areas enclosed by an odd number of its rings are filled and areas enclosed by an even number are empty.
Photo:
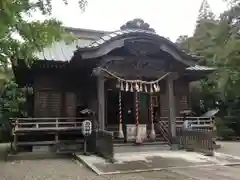
[[[62,2],[68,3],[67,0]],[[81,10],[86,3],[86,0],[79,0]],[[46,15],[46,19],[30,21],[36,11]],[[26,89],[17,86],[9,67],[17,66],[17,60],[29,65],[36,59],[35,52],[55,41],[72,40],[61,22],[49,18],[51,12],[51,0],[0,0],[0,131],[9,129],[9,117],[26,116]]]

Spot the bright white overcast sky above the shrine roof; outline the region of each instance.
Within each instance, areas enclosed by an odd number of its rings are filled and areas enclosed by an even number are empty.
[[[118,30],[127,21],[140,18],[159,35],[175,41],[180,35],[193,33],[201,3],[202,0],[88,0],[82,13],[77,0],[69,0],[68,6],[53,0],[52,16],[64,26],[105,31]],[[208,3],[217,15],[226,8],[222,0]]]

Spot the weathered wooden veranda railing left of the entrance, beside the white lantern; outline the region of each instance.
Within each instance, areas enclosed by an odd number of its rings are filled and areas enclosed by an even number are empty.
[[[18,152],[24,147],[48,146],[54,152],[61,149],[71,152],[75,147],[81,151],[84,140],[81,128],[86,119],[94,120],[93,117],[12,118],[12,150]]]

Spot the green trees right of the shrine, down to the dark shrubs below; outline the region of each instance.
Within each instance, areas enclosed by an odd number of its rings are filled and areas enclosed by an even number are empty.
[[[193,36],[180,36],[177,40],[181,48],[201,57],[200,63],[217,68],[195,86],[198,96],[194,96],[193,104],[200,113],[220,109],[219,134],[222,136],[240,134],[236,128],[240,127],[240,1],[228,2],[230,8],[215,17],[205,1]]]

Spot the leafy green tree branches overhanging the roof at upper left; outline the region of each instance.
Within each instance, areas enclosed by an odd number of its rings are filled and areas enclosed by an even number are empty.
[[[62,0],[67,5],[67,0]],[[84,9],[85,0],[79,0]],[[16,64],[17,58],[31,62],[33,53],[64,38],[61,22],[48,18],[44,21],[29,21],[35,11],[51,15],[51,0],[0,0],[0,63]],[[17,38],[16,38],[17,37]],[[31,49],[31,51],[29,51]]]

